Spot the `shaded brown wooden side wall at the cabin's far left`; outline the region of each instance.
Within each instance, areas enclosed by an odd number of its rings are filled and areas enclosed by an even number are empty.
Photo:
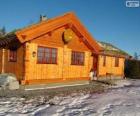
[[[17,49],[17,61],[10,62],[9,61],[9,50],[4,50],[4,73],[13,73],[16,75],[18,80],[23,79],[23,64],[24,64],[24,56],[23,56],[23,46]],[[0,50],[0,71],[2,73],[2,49]]]

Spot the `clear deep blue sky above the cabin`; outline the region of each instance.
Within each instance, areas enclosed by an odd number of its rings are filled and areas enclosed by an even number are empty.
[[[139,1],[139,0],[138,0]],[[7,32],[48,18],[74,12],[98,41],[112,43],[133,55],[140,54],[140,7],[126,0],[0,0],[0,27]]]

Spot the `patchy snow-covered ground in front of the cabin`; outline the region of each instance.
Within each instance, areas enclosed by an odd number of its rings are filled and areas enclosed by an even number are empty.
[[[125,86],[124,86],[125,85]],[[38,103],[40,105],[38,105]],[[140,80],[118,83],[101,94],[76,94],[54,97],[0,99],[0,115],[8,116],[140,116]]]

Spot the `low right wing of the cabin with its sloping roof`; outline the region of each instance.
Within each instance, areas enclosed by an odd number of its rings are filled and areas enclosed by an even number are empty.
[[[123,78],[124,62],[130,55],[110,43],[98,44],[102,48],[98,55],[98,78]]]

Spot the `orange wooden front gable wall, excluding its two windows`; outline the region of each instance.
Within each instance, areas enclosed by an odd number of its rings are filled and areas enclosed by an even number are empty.
[[[25,81],[89,79],[93,61],[90,50],[76,34],[64,45],[62,40],[64,30],[63,27],[59,28],[26,43]],[[33,57],[32,53],[37,53],[38,46],[57,48],[57,64],[37,63],[37,54]],[[72,50],[85,53],[84,65],[71,65]]]

